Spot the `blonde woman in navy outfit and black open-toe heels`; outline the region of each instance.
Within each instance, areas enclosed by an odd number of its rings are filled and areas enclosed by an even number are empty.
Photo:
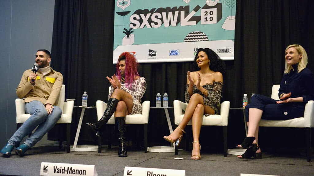
[[[305,104],[314,100],[314,75],[306,68],[308,59],[305,49],[298,44],[285,50],[285,69],[280,83],[279,99],[253,95],[245,108],[248,126],[247,137],[237,148],[247,148],[238,158],[262,158],[258,146],[258,124],[261,120],[288,120],[303,117]]]

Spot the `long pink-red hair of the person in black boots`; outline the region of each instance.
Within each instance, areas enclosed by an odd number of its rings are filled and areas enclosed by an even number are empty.
[[[121,81],[121,74],[119,71],[119,62],[120,60],[125,60],[125,72],[124,72],[124,79],[125,84],[128,89],[131,88],[132,82],[134,81],[135,76],[139,76],[137,67],[138,62],[133,54],[129,52],[123,52],[120,54],[117,65],[116,65],[116,76]]]

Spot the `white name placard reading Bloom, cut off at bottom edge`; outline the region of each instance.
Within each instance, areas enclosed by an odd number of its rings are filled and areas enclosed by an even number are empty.
[[[185,170],[125,167],[123,176],[185,176]]]

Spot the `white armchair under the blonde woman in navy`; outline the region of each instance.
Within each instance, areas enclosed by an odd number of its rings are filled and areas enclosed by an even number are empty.
[[[280,85],[273,85],[271,98],[278,100]],[[260,127],[294,127],[305,128],[307,162],[311,162],[311,128],[314,127],[314,101],[308,101],[305,105],[304,117],[290,120],[265,120],[261,119]]]

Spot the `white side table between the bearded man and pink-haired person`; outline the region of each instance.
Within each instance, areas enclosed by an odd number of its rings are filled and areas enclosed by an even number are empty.
[[[79,132],[81,130],[85,109],[86,108],[88,108],[88,109],[96,109],[96,108],[95,107],[83,107],[83,106],[74,106],[74,107],[82,108],[82,112],[81,112],[81,116],[79,118],[78,129],[76,130],[74,144],[73,144],[72,147],[70,147],[70,151],[75,151],[75,152],[98,151],[98,145],[77,145],[77,143],[78,143],[78,136],[79,136]]]

